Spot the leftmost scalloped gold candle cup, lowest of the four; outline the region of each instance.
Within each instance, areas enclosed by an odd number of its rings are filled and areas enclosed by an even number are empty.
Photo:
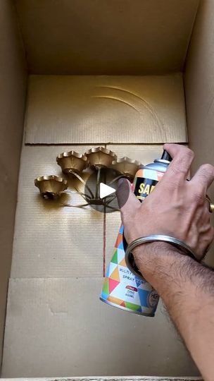
[[[34,185],[39,188],[43,198],[56,200],[60,198],[61,193],[68,188],[67,181],[58,176],[40,176],[34,180]]]

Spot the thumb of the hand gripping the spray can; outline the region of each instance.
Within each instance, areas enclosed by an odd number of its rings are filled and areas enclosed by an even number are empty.
[[[127,179],[118,181],[118,189],[116,191],[120,212],[123,214],[131,214],[133,210],[140,207],[141,202],[137,199],[132,191],[132,184]]]

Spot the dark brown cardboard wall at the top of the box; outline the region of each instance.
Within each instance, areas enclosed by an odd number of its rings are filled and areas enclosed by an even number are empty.
[[[198,0],[15,0],[33,74],[182,70]]]

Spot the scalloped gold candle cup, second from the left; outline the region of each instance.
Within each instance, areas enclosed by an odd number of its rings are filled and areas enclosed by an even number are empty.
[[[64,174],[76,172],[80,174],[88,166],[88,159],[85,155],[75,151],[63,152],[56,157],[56,162],[60,165]]]

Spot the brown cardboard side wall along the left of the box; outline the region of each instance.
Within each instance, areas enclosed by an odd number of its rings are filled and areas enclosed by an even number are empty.
[[[13,1],[0,2],[0,364],[26,90],[25,57]]]

